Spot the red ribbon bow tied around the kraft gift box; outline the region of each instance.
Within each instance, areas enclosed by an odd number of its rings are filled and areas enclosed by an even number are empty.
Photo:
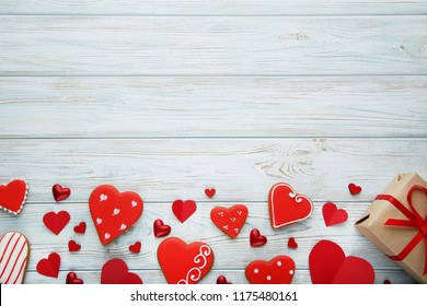
[[[409,209],[407,209],[404,204],[402,204],[401,201],[399,201],[396,198],[390,195],[378,195],[376,200],[386,200],[390,203],[392,203],[399,211],[401,211],[407,220],[400,220],[400,219],[389,219],[385,222],[385,225],[390,226],[402,226],[402,227],[409,227],[409,228],[416,228],[417,234],[412,238],[412,240],[404,247],[404,249],[395,255],[395,256],[389,256],[392,260],[403,260],[411,254],[411,251],[415,248],[416,245],[418,245],[420,242],[424,240],[424,272],[423,275],[427,274],[427,215],[423,219],[423,216],[419,215],[419,213],[416,211],[412,203],[412,193],[415,190],[424,191],[427,196],[427,188],[420,186],[420,185],[413,185],[411,189],[407,191],[407,202],[409,203]],[[427,203],[426,203],[427,204]]]

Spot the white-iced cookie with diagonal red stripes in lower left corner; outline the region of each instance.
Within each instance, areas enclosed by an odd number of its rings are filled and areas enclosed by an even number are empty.
[[[30,259],[30,244],[18,232],[4,233],[0,238],[0,283],[22,284]]]

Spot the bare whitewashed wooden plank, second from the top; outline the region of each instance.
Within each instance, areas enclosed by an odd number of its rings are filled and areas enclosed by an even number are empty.
[[[425,74],[427,16],[1,16],[0,75]]]

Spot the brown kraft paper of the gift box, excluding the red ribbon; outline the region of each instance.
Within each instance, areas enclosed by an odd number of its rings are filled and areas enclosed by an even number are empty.
[[[382,191],[382,195],[391,195],[409,209],[407,191],[413,185],[427,187],[427,183],[417,174],[397,175],[392,183]],[[425,217],[427,214],[427,198],[420,191],[414,191],[412,197],[414,209]],[[356,228],[377,245],[385,255],[399,255],[414,238],[418,229],[384,225],[389,219],[407,220],[393,204],[386,200],[374,200],[363,215],[356,222]],[[423,276],[425,264],[424,240],[418,243],[411,254],[400,261],[401,266],[409,275],[419,283],[427,283],[427,275]]]

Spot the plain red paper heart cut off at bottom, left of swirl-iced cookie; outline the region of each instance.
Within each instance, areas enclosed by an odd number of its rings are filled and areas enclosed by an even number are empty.
[[[114,258],[102,267],[101,284],[142,284],[142,280],[129,272],[125,261]]]

